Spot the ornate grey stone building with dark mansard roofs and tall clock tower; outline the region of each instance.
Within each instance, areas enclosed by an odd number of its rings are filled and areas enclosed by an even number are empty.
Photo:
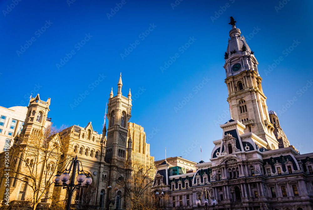
[[[213,141],[210,161],[200,161],[193,173],[174,173],[167,161],[157,165],[152,193],[164,192],[169,209],[202,208],[206,189],[218,210],[312,210],[313,153],[289,146],[277,116],[268,113],[258,61],[238,28],[229,36],[224,68],[231,119],[220,125],[222,138]]]

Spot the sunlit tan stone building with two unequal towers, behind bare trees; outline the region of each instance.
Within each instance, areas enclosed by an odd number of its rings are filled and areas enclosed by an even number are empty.
[[[118,185],[118,178],[122,176],[125,179],[130,179],[131,168],[123,168],[125,162],[131,162],[134,157],[138,154],[142,154],[141,162],[153,163],[154,158],[150,156],[149,144],[146,144],[145,137],[141,138],[143,141],[137,141],[135,137],[136,146],[144,148],[144,151],[137,151],[135,149],[132,153],[133,144],[131,140],[131,135],[134,134],[134,125],[129,123],[128,120],[131,118],[131,92],[129,90],[128,97],[122,95],[122,80],[121,75],[117,84],[117,95],[113,96],[113,89],[111,90],[109,101],[108,101],[108,114],[106,115],[109,121],[109,125],[104,125],[102,134],[98,134],[93,127],[91,122],[89,122],[85,127],[78,125],[72,125],[62,131],[53,134],[55,142],[68,141],[66,147],[63,148],[61,153],[61,159],[69,159],[77,155],[78,159],[81,161],[81,167],[85,172],[90,173],[90,177],[93,180],[94,188],[92,195],[92,204],[96,205],[97,208],[104,209],[109,208],[108,200],[114,200],[115,204],[111,206],[113,209],[125,209],[127,203],[125,202],[123,188]],[[44,159],[45,156],[40,154],[38,157],[33,156],[33,154],[27,153],[25,151],[35,151],[36,148],[33,147],[32,140],[36,139],[36,142],[44,141],[44,133],[46,130],[51,128],[51,122],[47,118],[49,112],[50,99],[43,101],[40,99],[39,95],[35,98],[30,99],[30,104],[25,107],[24,116],[25,123],[21,134],[17,135],[14,140],[14,148],[9,149],[9,153],[12,154],[13,150],[17,150],[21,155],[21,158],[14,158],[10,156],[9,163],[19,172],[23,169],[27,169],[28,166],[31,167],[32,172],[36,172],[38,177],[48,177],[54,176],[59,169],[64,167],[63,164],[55,163],[53,158],[50,158],[47,163],[49,167],[44,165],[44,162],[40,162],[37,166],[33,163],[37,159]],[[128,126],[131,126],[128,128]],[[141,127],[140,125],[136,125]],[[135,127],[136,127],[135,126]],[[141,127],[142,128],[142,127]],[[136,128],[135,128],[136,129]],[[108,132],[106,134],[106,132]],[[17,134],[17,133],[16,133]],[[143,128],[142,128],[142,134]],[[35,141],[33,141],[35,142]],[[16,149],[19,148],[19,149]],[[55,155],[55,154],[53,154]],[[0,159],[4,160],[5,153],[0,154]],[[135,158],[136,159],[136,158]],[[25,161],[23,161],[25,160]],[[27,161],[27,163],[26,163]],[[3,161],[4,162],[4,161]],[[33,169],[32,169],[33,168]],[[24,170],[25,173],[29,170]],[[153,173],[154,175],[154,173]],[[153,177],[152,175],[152,177]],[[29,180],[20,180],[22,175],[15,175],[11,172],[11,177],[16,176],[16,178],[9,179],[9,192],[10,201],[13,200],[32,200],[33,194],[32,189],[27,183]],[[52,180],[48,180],[51,183]],[[5,198],[4,192],[7,186],[5,186],[5,177],[0,179],[0,200],[3,201]],[[40,183],[43,186],[43,183]],[[112,186],[112,189],[108,190],[108,186]],[[117,187],[117,188],[115,188]],[[72,203],[81,202],[80,191],[76,191]],[[53,184],[43,195],[38,194],[39,199],[42,199],[38,204],[39,208],[49,208],[52,200],[50,199],[52,195],[57,195],[57,200],[63,200],[66,202],[66,190],[60,187],[53,187]]]

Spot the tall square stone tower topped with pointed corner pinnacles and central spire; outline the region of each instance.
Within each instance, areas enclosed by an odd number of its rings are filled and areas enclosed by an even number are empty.
[[[116,163],[125,160],[127,155],[127,125],[131,118],[131,93],[128,97],[122,95],[122,79],[117,83],[117,95],[113,97],[113,88],[108,102],[109,124],[107,128],[107,142],[105,161]]]

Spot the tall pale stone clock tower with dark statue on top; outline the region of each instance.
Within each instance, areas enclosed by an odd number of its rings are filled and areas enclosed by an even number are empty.
[[[229,24],[233,26],[229,31],[224,69],[231,117],[246,126],[244,133],[252,132],[268,143],[268,149],[278,149],[262,90],[258,61],[245,38],[240,36],[240,29],[236,28],[234,21]]]

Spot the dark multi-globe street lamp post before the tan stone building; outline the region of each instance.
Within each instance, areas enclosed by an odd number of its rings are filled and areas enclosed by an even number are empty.
[[[69,166],[70,164],[70,166]],[[75,189],[80,189],[80,188],[87,188],[88,185],[91,184],[92,179],[89,176],[89,173],[85,173],[83,168],[80,170],[80,160],[77,159],[77,155],[75,158],[73,158],[65,168],[63,172],[57,172],[57,175],[55,175],[52,178],[52,181],[54,183],[54,186],[57,187],[63,187],[63,189],[66,189],[68,192],[68,198],[67,198],[67,204],[66,204],[66,210],[70,210],[71,207],[71,200],[72,200],[72,195],[74,193]],[[76,175],[76,168],[77,172],[79,173],[76,177],[76,180],[78,184],[74,184],[74,179]],[[69,179],[69,173],[70,170],[72,170],[72,175],[71,179]],[[61,174],[62,173],[62,174]],[[60,184],[61,183],[61,184]]]

